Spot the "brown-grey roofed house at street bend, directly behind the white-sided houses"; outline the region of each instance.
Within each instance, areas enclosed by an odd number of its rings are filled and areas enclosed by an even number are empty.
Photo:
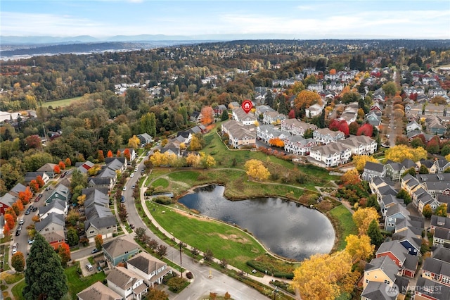
[[[139,245],[128,237],[119,237],[103,244],[103,254],[113,265],[124,263],[139,253]]]

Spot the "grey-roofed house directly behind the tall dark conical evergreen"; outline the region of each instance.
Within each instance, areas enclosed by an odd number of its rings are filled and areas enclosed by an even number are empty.
[[[64,215],[49,213],[45,219],[34,223],[34,228],[53,249],[58,249],[65,242]]]

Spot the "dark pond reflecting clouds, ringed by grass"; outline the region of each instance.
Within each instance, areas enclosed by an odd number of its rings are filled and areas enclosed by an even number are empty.
[[[184,206],[202,215],[236,223],[252,232],[274,254],[302,261],[313,254],[333,249],[335,231],[330,220],[314,209],[280,198],[229,201],[225,187],[198,187],[179,199]]]

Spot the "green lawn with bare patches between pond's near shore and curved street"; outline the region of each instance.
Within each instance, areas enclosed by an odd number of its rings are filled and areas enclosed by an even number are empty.
[[[214,257],[225,258],[240,270],[249,270],[245,262],[265,253],[253,237],[237,228],[212,220],[188,218],[167,206],[148,203],[148,208],[155,220],[174,237],[203,252],[211,249]]]

